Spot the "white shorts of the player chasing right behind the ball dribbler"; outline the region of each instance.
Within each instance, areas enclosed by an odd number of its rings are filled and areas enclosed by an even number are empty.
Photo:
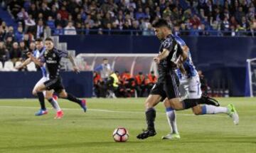
[[[201,83],[198,75],[192,78],[182,77],[179,81],[178,90],[183,100],[187,98],[198,99],[201,97]]]

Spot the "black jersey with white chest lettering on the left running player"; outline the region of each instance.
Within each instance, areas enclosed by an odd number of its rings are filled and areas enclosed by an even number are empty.
[[[41,62],[46,63],[46,70],[49,73],[50,79],[58,78],[60,76],[60,60],[61,58],[68,58],[68,52],[59,51],[53,48],[51,51],[45,51]]]

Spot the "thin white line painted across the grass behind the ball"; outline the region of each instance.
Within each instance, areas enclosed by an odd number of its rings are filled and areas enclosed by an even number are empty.
[[[33,106],[7,106],[7,105],[1,105],[1,107],[6,107],[6,108],[28,108],[28,109],[38,109],[38,107],[33,107]],[[50,108],[50,110],[53,110],[53,108]],[[80,110],[79,108],[62,108],[62,110]],[[142,111],[120,111],[120,110],[102,110],[102,109],[87,109],[88,111],[95,111],[95,112],[120,112],[120,113],[145,113]],[[165,112],[157,112],[157,113],[162,113],[165,114]],[[195,116],[192,113],[187,114],[187,113],[179,113],[178,115],[183,115],[183,116]],[[226,117],[223,115],[200,115],[201,117]]]

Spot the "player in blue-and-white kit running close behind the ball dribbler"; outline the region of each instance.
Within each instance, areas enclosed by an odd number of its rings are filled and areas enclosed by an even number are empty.
[[[188,58],[182,64],[183,70],[185,72],[181,73],[182,69],[177,69],[176,73],[178,75],[178,79],[180,85],[178,90],[181,94],[182,99],[197,99],[202,96],[201,91],[201,83],[197,73],[195,66],[193,65],[193,61],[191,58],[191,53],[189,51],[188,46],[186,43],[179,37],[174,36],[177,43],[181,46],[183,51],[188,54]],[[208,97],[210,98],[210,97]],[[213,98],[210,98],[213,101]],[[171,127],[171,133],[167,134],[166,136],[162,137],[162,139],[179,139],[180,135],[178,133],[178,127],[176,124],[176,112],[172,107],[169,107],[168,100],[164,101],[164,105],[166,106],[166,116]],[[218,103],[218,102],[217,102]],[[228,105],[227,107],[217,107],[214,105],[196,105],[192,107],[193,113],[195,115],[206,115],[206,114],[218,114],[218,113],[225,113],[233,118],[233,122],[235,125],[238,125],[239,117],[238,113],[235,110],[235,106],[233,104]]]

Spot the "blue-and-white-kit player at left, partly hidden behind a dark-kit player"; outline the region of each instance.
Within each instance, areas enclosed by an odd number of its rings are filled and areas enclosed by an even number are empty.
[[[46,51],[46,47],[43,46],[43,40],[41,38],[37,38],[36,39],[36,50],[33,52],[33,56],[36,58],[39,58],[40,56],[43,55],[43,53]],[[16,66],[16,69],[19,68],[23,68],[24,66],[28,65],[29,63],[31,63],[31,59],[28,58],[27,60],[25,60],[23,63],[21,63],[21,65]],[[42,73],[43,73],[43,77],[38,80],[38,83],[36,83],[36,85],[33,88],[33,95],[37,95],[36,93],[36,88],[38,85],[40,85],[41,83],[46,82],[46,80],[49,80],[49,76],[48,73],[46,71],[46,67],[42,66],[41,67]],[[53,98],[53,90],[47,90],[45,92],[43,92],[43,95],[45,96],[45,98],[50,102],[50,104],[53,106],[53,108],[56,110],[56,119],[59,119],[61,117],[63,117],[63,111],[60,109],[60,106],[58,105],[58,102]],[[41,105],[41,109],[38,110],[38,112],[36,112],[36,116],[41,116],[41,115],[46,115],[48,113],[48,110],[46,110],[46,105],[45,102],[40,102]]]

